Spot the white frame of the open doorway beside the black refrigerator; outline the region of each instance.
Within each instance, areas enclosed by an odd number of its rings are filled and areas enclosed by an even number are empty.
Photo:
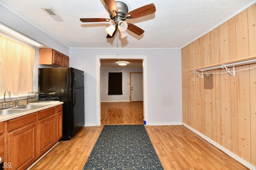
[[[101,59],[141,59],[143,70],[143,117],[148,125],[148,61],[147,55],[96,55],[96,125],[101,125],[100,115],[100,60]]]

